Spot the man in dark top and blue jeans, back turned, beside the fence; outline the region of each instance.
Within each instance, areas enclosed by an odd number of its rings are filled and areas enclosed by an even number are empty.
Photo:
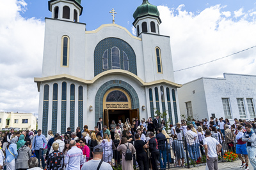
[[[160,162],[160,167],[165,168],[166,167],[166,137],[162,133],[162,128],[159,127],[157,129],[157,135],[156,135],[157,143],[158,143],[158,149],[159,149],[159,162]],[[162,157],[163,157],[163,162],[162,162]]]

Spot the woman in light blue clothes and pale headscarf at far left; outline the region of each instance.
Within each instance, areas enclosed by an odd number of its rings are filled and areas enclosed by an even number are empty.
[[[15,159],[18,157],[16,139],[11,139],[10,143],[6,146],[6,170],[16,169]]]

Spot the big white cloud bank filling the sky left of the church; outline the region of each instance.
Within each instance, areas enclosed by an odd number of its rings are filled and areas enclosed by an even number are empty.
[[[42,71],[44,22],[22,18],[26,5],[8,0],[0,6],[0,111],[38,113],[33,78]]]

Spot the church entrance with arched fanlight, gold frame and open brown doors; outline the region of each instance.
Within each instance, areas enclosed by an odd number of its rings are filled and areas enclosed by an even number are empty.
[[[130,122],[132,122],[132,118],[140,118],[139,110],[132,110],[131,105],[131,98],[125,90],[109,89],[103,97],[103,124],[109,128],[112,120],[118,124],[118,120],[125,123],[127,118]]]

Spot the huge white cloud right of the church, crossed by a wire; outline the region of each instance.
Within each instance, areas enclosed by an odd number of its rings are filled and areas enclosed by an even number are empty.
[[[211,6],[200,13],[158,6],[161,34],[170,36],[174,70],[218,59],[255,46],[256,22],[232,20],[223,6]],[[243,10],[238,10],[243,11]],[[252,11],[251,11],[252,12]],[[237,13],[237,16],[239,14]],[[255,74],[256,48],[186,71],[175,72],[175,82],[186,83],[202,76],[223,77],[223,73]]]

